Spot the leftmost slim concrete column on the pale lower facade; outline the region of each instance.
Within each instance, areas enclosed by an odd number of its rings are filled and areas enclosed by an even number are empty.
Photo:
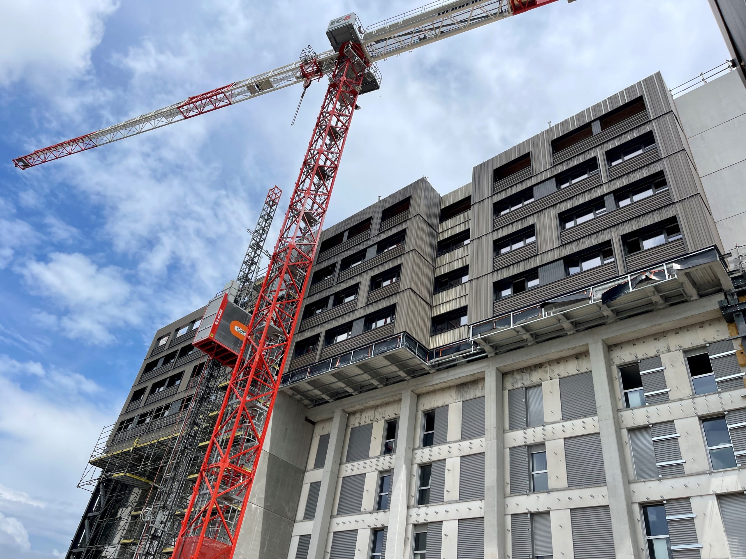
[[[309,559],[324,559],[346,428],[347,412],[337,408],[331,422],[327,459],[324,464],[324,473],[322,473],[322,485],[319,487],[319,502],[316,504],[316,516],[313,517],[313,531],[308,548]]]

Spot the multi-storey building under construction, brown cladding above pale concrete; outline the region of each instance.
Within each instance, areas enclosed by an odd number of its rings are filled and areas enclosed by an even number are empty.
[[[233,556],[745,558],[728,66],[675,99],[652,75],[464,186],[327,227]],[[67,558],[171,555],[231,374],[192,345],[204,314],[155,332]]]

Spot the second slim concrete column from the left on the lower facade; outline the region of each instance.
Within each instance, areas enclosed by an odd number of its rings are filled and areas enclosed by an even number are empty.
[[[392,557],[404,557],[407,543],[407,496],[412,475],[416,411],[417,394],[410,390],[402,392],[389,503],[389,532],[386,534],[386,555],[390,553]]]

